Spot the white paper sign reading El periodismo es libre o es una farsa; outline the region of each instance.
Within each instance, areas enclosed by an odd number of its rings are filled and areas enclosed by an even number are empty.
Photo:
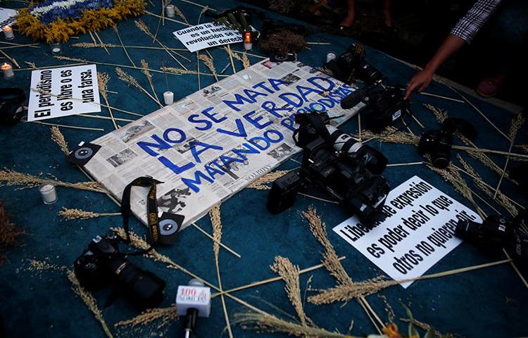
[[[33,70],[31,88],[28,121],[101,111],[95,65]]]

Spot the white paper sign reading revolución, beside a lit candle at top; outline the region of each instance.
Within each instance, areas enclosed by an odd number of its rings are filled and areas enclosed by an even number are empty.
[[[242,42],[242,35],[237,30],[220,23],[203,23],[177,30],[172,34],[179,39],[189,51],[199,51],[222,44]]]

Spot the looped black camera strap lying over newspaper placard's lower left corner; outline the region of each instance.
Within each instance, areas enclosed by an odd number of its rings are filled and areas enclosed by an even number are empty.
[[[149,225],[149,242],[151,245],[156,245],[160,239],[160,227],[158,224],[158,201],[156,201],[156,184],[160,184],[158,180],[154,180],[149,176],[137,177],[137,179],[130,182],[122,192],[121,199],[121,215],[123,228],[127,238],[125,242],[130,243],[130,234],[128,227],[128,218],[130,218],[130,192],[132,187],[151,187],[149,194],[146,196],[146,213],[147,223]]]

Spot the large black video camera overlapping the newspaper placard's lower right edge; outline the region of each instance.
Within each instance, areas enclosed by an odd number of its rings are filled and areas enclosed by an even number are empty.
[[[372,226],[385,218],[382,207],[389,184],[381,174],[387,160],[379,151],[329,125],[329,121],[327,113],[322,112],[296,115],[299,127],[294,140],[304,149],[301,170],[275,180],[268,196],[268,210],[286,210],[309,184],[324,190],[346,211]]]

